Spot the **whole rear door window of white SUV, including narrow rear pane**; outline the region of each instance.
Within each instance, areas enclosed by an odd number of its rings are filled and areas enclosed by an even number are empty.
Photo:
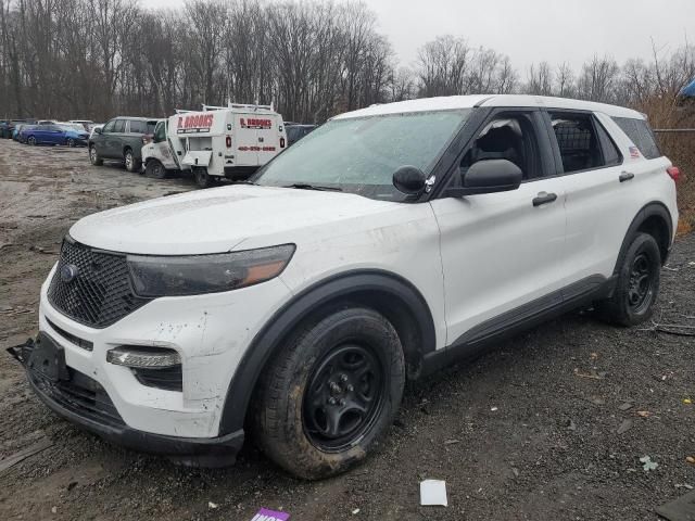
[[[552,112],[565,174],[622,163],[622,155],[606,129],[591,114]]]

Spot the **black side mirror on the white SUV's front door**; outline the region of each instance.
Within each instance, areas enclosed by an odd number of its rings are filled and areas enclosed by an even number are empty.
[[[473,163],[464,175],[463,187],[450,188],[445,195],[463,198],[479,193],[508,192],[521,185],[521,168],[508,160],[484,160]]]

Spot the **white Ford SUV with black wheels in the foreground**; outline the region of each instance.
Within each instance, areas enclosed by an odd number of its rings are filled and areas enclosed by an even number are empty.
[[[473,96],[332,118],[251,182],[75,224],[15,354],[97,434],[308,479],[363,459],[404,383],[582,305],[649,317],[678,169],[645,117]]]

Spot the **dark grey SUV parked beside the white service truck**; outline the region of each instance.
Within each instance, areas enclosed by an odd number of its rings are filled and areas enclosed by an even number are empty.
[[[143,137],[154,134],[159,119],[152,117],[114,117],[89,138],[89,161],[102,165],[104,160],[122,161],[128,171],[139,171]]]

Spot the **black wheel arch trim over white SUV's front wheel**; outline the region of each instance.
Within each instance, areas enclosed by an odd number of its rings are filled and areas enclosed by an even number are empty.
[[[421,364],[425,354],[435,348],[434,321],[425,297],[410,282],[383,270],[353,270],[329,277],[293,296],[251,341],[229,382],[219,420],[219,434],[243,428],[258,378],[288,334],[323,306],[350,301],[351,296],[369,292],[388,295],[407,306],[410,318],[417,322],[422,335],[418,352],[410,354]],[[378,307],[376,309],[379,310]]]

